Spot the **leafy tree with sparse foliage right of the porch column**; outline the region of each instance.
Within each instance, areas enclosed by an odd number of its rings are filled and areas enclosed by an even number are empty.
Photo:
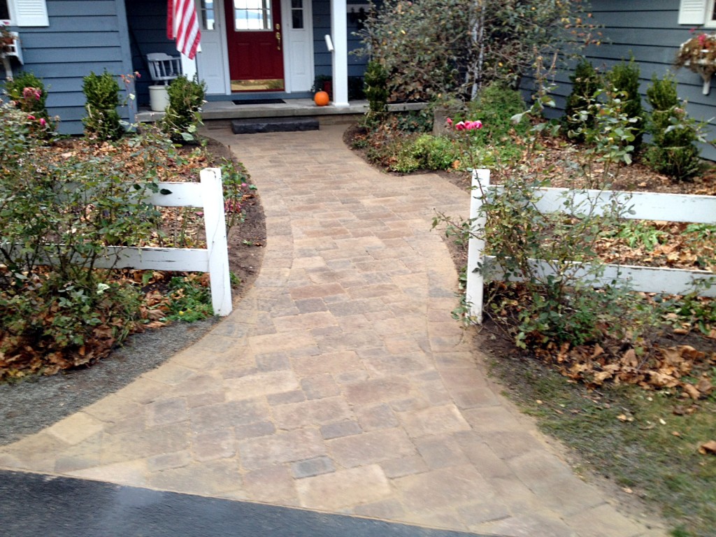
[[[385,0],[363,31],[392,96],[470,100],[493,80],[516,86],[540,54],[589,42],[586,0]]]

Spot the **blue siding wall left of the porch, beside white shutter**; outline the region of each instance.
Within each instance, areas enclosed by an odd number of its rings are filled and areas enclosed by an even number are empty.
[[[132,71],[124,1],[47,0],[47,11],[49,26],[16,29],[25,63],[13,67],[44,80],[47,107],[50,115],[59,115],[60,132],[79,134],[82,77],[104,69],[117,75]],[[120,112],[128,119],[126,109]]]

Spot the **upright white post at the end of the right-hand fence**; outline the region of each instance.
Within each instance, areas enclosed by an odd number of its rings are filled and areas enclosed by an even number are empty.
[[[473,223],[468,241],[468,274],[465,284],[465,301],[470,308],[470,318],[478,324],[483,322],[483,273],[478,271],[485,261],[485,225],[487,218],[480,216],[483,195],[490,186],[490,170],[473,170],[473,184],[470,196],[470,221]],[[477,235],[477,237],[475,237]]]

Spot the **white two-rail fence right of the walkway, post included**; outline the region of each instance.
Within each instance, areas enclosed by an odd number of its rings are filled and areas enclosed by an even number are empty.
[[[483,271],[476,270],[483,263],[494,263],[493,256],[485,256],[485,221],[480,214],[483,205],[482,193],[488,189],[501,190],[498,185],[490,185],[490,170],[473,171],[473,195],[470,199],[470,219],[473,220],[473,232],[478,237],[470,238],[468,243],[468,281],[465,300],[470,308],[470,316],[482,321],[483,313]],[[565,212],[566,188],[541,188],[543,195],[538,198],[536,207],[543,212]],[[614,192],[610,190],[579,190],[572,192],[571,205],[581,202],[595,203],[595,214],[609,210],[614,200],[629,204],[630,211],[624,218],[632,220],[657,220],[669,222],[716,223],[716,196],[687,194],[657,194],[641,192]],[[489,241],[489,237],[487,237]],[[541,259],[531,260],[542,276],[552,273],[548,264]],[[496,264],[496,263],[495,263]],[[581,265],[581,263],[575,262]],[[494,265],[493,265],[494,266]],[[497,268],[497,267],[495,267]],[[589,274],[589,265],[583,271],[576,271],[576,277]],[[490,271],[490,276],[498,272]],[[596,285],[607,286],[616,279],[629,282],[634,291],[645,293],[687,294],[695,290],[697,281],[713,281],[716,274],[710,271],[692,271],[687,269],[667,269],[633,265],[607,264],[604,274],[595,281]],[[716,286],[699,289],[701,296],[716,296]]]

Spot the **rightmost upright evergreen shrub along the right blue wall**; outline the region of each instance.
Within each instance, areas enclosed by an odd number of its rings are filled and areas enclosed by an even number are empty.
[[[652,106],[648,128],[653,137],[647,162],[674,180],[690,178],[700,168],[695,142],[703,141],[702,125],[689,117],[686,104],[679,100],[674,75],[667,73],[659,79],[654,74],[647,100]]]

